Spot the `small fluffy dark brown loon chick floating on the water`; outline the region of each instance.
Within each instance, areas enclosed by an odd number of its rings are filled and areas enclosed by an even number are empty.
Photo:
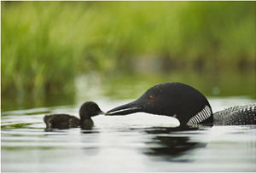
[[[79,109],[80,119],[68,114],[53,114],[45,115],[44,123],[46,124],[46,130],[63,130],[79,126],[82,130],[90,130],[94,125],[91,117],[103,113],[95,102],[87,101]]]

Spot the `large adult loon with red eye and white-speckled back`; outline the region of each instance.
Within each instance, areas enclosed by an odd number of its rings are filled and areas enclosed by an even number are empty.
[[[178,119],[181,127],[194,124],[239,125],[256,122],[256,103],[230,107],[213,114],[205,95],[181,83],[157,84],[136,101],[115,107],[106,115],[126,115],[133,112],[171,116]]]

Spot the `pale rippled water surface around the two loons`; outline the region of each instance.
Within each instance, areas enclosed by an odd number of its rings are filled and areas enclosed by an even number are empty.
[[[126,101],[96,102],[106,111]],[[249,102],[210,99],[213,112]],[[256,171],[256,125],[180,131],[174,118],[135,113],[95,117],[93,130],[44,131],[44,114],[78,110],[2,112],[2,171]]]

